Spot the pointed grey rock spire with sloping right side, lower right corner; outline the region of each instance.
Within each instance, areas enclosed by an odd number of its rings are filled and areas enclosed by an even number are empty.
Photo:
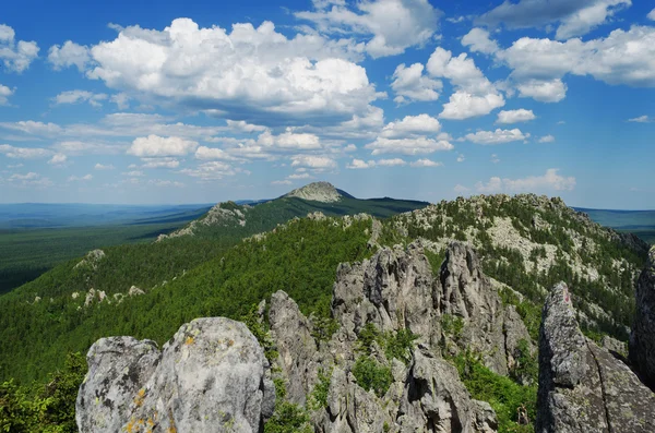
[[[584,337],[568,287],[544,306],[537,433],[653,432],[655,395],[606,349]]]

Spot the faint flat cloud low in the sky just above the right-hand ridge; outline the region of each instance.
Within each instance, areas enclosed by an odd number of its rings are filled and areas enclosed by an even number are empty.
[[[544,176],[529,176],[522,179],[501,179],[492,177],[488,182],[477,182],[475,188],[485,194],[541,192],[541,191],[572,191],[575,188],[575,178],[558,175],[559,169],[549,168]]]

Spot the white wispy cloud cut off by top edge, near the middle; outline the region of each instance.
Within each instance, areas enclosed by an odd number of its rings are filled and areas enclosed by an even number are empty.
[[[295,15],[312,22],[319,32],[354,35],[364,39],[362,48],[373,58],[401,55],[405,49],[429,41],[439,26],[441,12],[428,0],[371,0],[356,2],[314,2],[313,12]]]

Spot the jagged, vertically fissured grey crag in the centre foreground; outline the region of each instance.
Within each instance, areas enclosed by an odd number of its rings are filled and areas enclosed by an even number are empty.
[[[491,407],[472,399],[456,369],[443,359],[444,339],[454,337],[445,336],[442,322],[448,316],[463,323],[452,350],[488,352],[485,361],[504,374],[516,345],[529,341],[529,335],[515,310],[502,305],[471,248],[450,245],[437,277],[420,243],[341,264],[332,316],[338,330],[329,340],[317,340],[312,321],[286,293],[271,299],[269,323],[279,352],[276,374],[286,383],[287,398],[309,402],[319,375],[330,374],[327,405],[312,412],[317,432],[497,431]],[[364,389],[354,373],[361,356],[359,333],[371,324],[381,333],[408,329],[418,336],[406,364],[388,359],[372,344],[370,358],[392,375],[384,395]]]

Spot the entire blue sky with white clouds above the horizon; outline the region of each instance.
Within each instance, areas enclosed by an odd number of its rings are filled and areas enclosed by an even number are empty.
[[[648,5],[650,4],[650,5]],[[631,0],[8,2],[0,203],[214,203],[325,180],[655,208]]]

